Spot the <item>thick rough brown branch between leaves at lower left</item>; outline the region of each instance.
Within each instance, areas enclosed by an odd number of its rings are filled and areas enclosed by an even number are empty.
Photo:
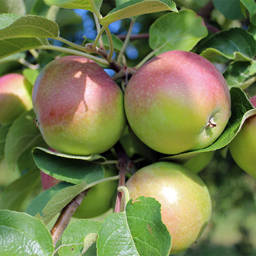
[[[55,246],[57,241],[59,240],[61,234],[67,228],[71,217],[73,216],[74,212],[76,211],[77,207],[81,204],[84,196],[86,196],[88,189],[82,191],[78,196],[72,199],[60,212],[60,215],[55,222],[52,230],[52,240],[53,245]]]

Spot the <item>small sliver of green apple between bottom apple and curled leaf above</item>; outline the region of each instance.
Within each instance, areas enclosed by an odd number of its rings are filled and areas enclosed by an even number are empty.
[[[197,174],[210,163],[211,159],[214,157],[214,153],[214,151],[198,153],[183,165]]]

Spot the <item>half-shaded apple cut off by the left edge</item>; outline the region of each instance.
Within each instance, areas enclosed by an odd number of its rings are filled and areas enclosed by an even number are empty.
[[[32,109],[29,87],[22,74],[10,73],[0,77],[0,124],[12,122]]]

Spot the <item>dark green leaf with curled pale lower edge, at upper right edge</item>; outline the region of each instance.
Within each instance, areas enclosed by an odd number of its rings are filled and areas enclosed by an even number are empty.
[[[200,48],[201,56],[213,61],[224,56],[234,61],[251,61],[255,55],[256,41],[242,28],[231,28],[209,36]]]

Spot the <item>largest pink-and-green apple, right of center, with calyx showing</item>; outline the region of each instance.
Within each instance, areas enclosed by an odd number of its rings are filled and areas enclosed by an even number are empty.
[[[153,150],[171,155],[213,143],[225,129],[230,105],[227,83],[218,69],[185,51],[165,52],[147,61],[124,94],[134,133]]]

